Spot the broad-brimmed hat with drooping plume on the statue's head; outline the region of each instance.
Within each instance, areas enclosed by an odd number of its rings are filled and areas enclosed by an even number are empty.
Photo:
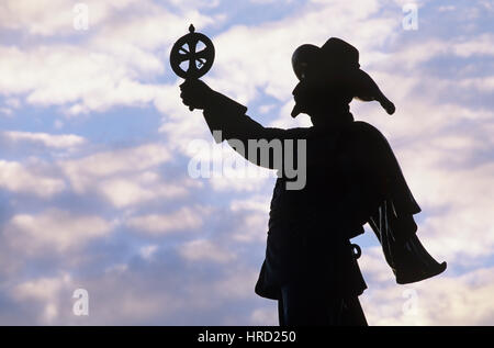
[[[350,88],[352,97],[364,101],[377,100],[390,115],[395,111],[394,104],[374,80],[360,69],[359,50],[338,37],[330,37],[321,47],[311,44],[300,46],[292,55],[292,67],[299,80],[311,74],[334,72],[341,86]]]

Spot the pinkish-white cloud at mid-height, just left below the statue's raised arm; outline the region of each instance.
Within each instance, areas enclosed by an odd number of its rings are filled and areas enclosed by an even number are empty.
[[[165,178],[158,167],[171,160],[161,144],[147,144],[96,153],[58,165],[78,194],[97,193],[115,207],[125,207],[156,199],[177,199],[202,182],[183,177]]]

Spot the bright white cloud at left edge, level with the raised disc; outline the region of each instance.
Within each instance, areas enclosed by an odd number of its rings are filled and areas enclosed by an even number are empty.
[[[117,57],[70,45],[1,46],[0,53],[0,93],[26,93],[33,104],[71,103],[67,112],[77,114],[114,104],[142,105],[154,99],[154,87],[133,80]]]

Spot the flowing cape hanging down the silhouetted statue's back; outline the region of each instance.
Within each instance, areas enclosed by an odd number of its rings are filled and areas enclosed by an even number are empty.
[[[446,270],[422,245],[413,215],[420,212],[385,137],[373,126],[356,122],[357,134],[372,144],[369,170],[384,182],[382,201],[369,216],[368,223],[378,237],[388,265],[400,284],[420,281]]]

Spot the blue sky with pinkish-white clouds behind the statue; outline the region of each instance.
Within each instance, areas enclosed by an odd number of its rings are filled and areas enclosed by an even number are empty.
[[[3,0],[0,324],[278,324],[276,302],[254,293],[276,177],[189,175],[197,141],[205,162],[236,156],[181,104],[168,57],[190,23],[216,50],[203,80],[267,126],[310,125],[290,117],[299,45],[355,45],[396,112],[351,112],[389,139],[423,210],[418,236],[448,262],[398,285],[366,227],[353,242],[368,322],[494,324],[487,0]]]

